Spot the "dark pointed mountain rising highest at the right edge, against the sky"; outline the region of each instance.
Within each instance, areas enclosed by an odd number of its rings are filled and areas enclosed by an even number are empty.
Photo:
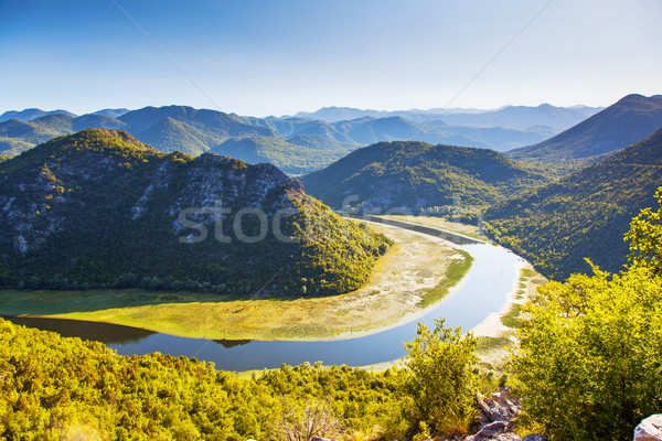
[[[628,95],[556,137],[514,149],[519,161],[587,164],[650,137],[662,127],[662,95]]]

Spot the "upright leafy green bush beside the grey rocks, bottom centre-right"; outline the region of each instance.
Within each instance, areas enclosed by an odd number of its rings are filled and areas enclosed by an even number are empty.
[[[433,331],[419,324],[418,336],[405,343],[409,375],[404,391],[414,405],[414,429],[427,427],[433,434],[466,432],[476,418],[477,374],[472,367],[478,340],[444,323],[445,319],[436,319]]]

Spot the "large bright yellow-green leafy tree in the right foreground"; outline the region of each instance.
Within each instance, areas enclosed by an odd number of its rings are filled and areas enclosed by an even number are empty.
[[[524,308],[512,366],[525,418],[553,440],[631,439],[662,408],[659,213],[633,219],[626,271],[594,266],[592,277],[541,287]]]

